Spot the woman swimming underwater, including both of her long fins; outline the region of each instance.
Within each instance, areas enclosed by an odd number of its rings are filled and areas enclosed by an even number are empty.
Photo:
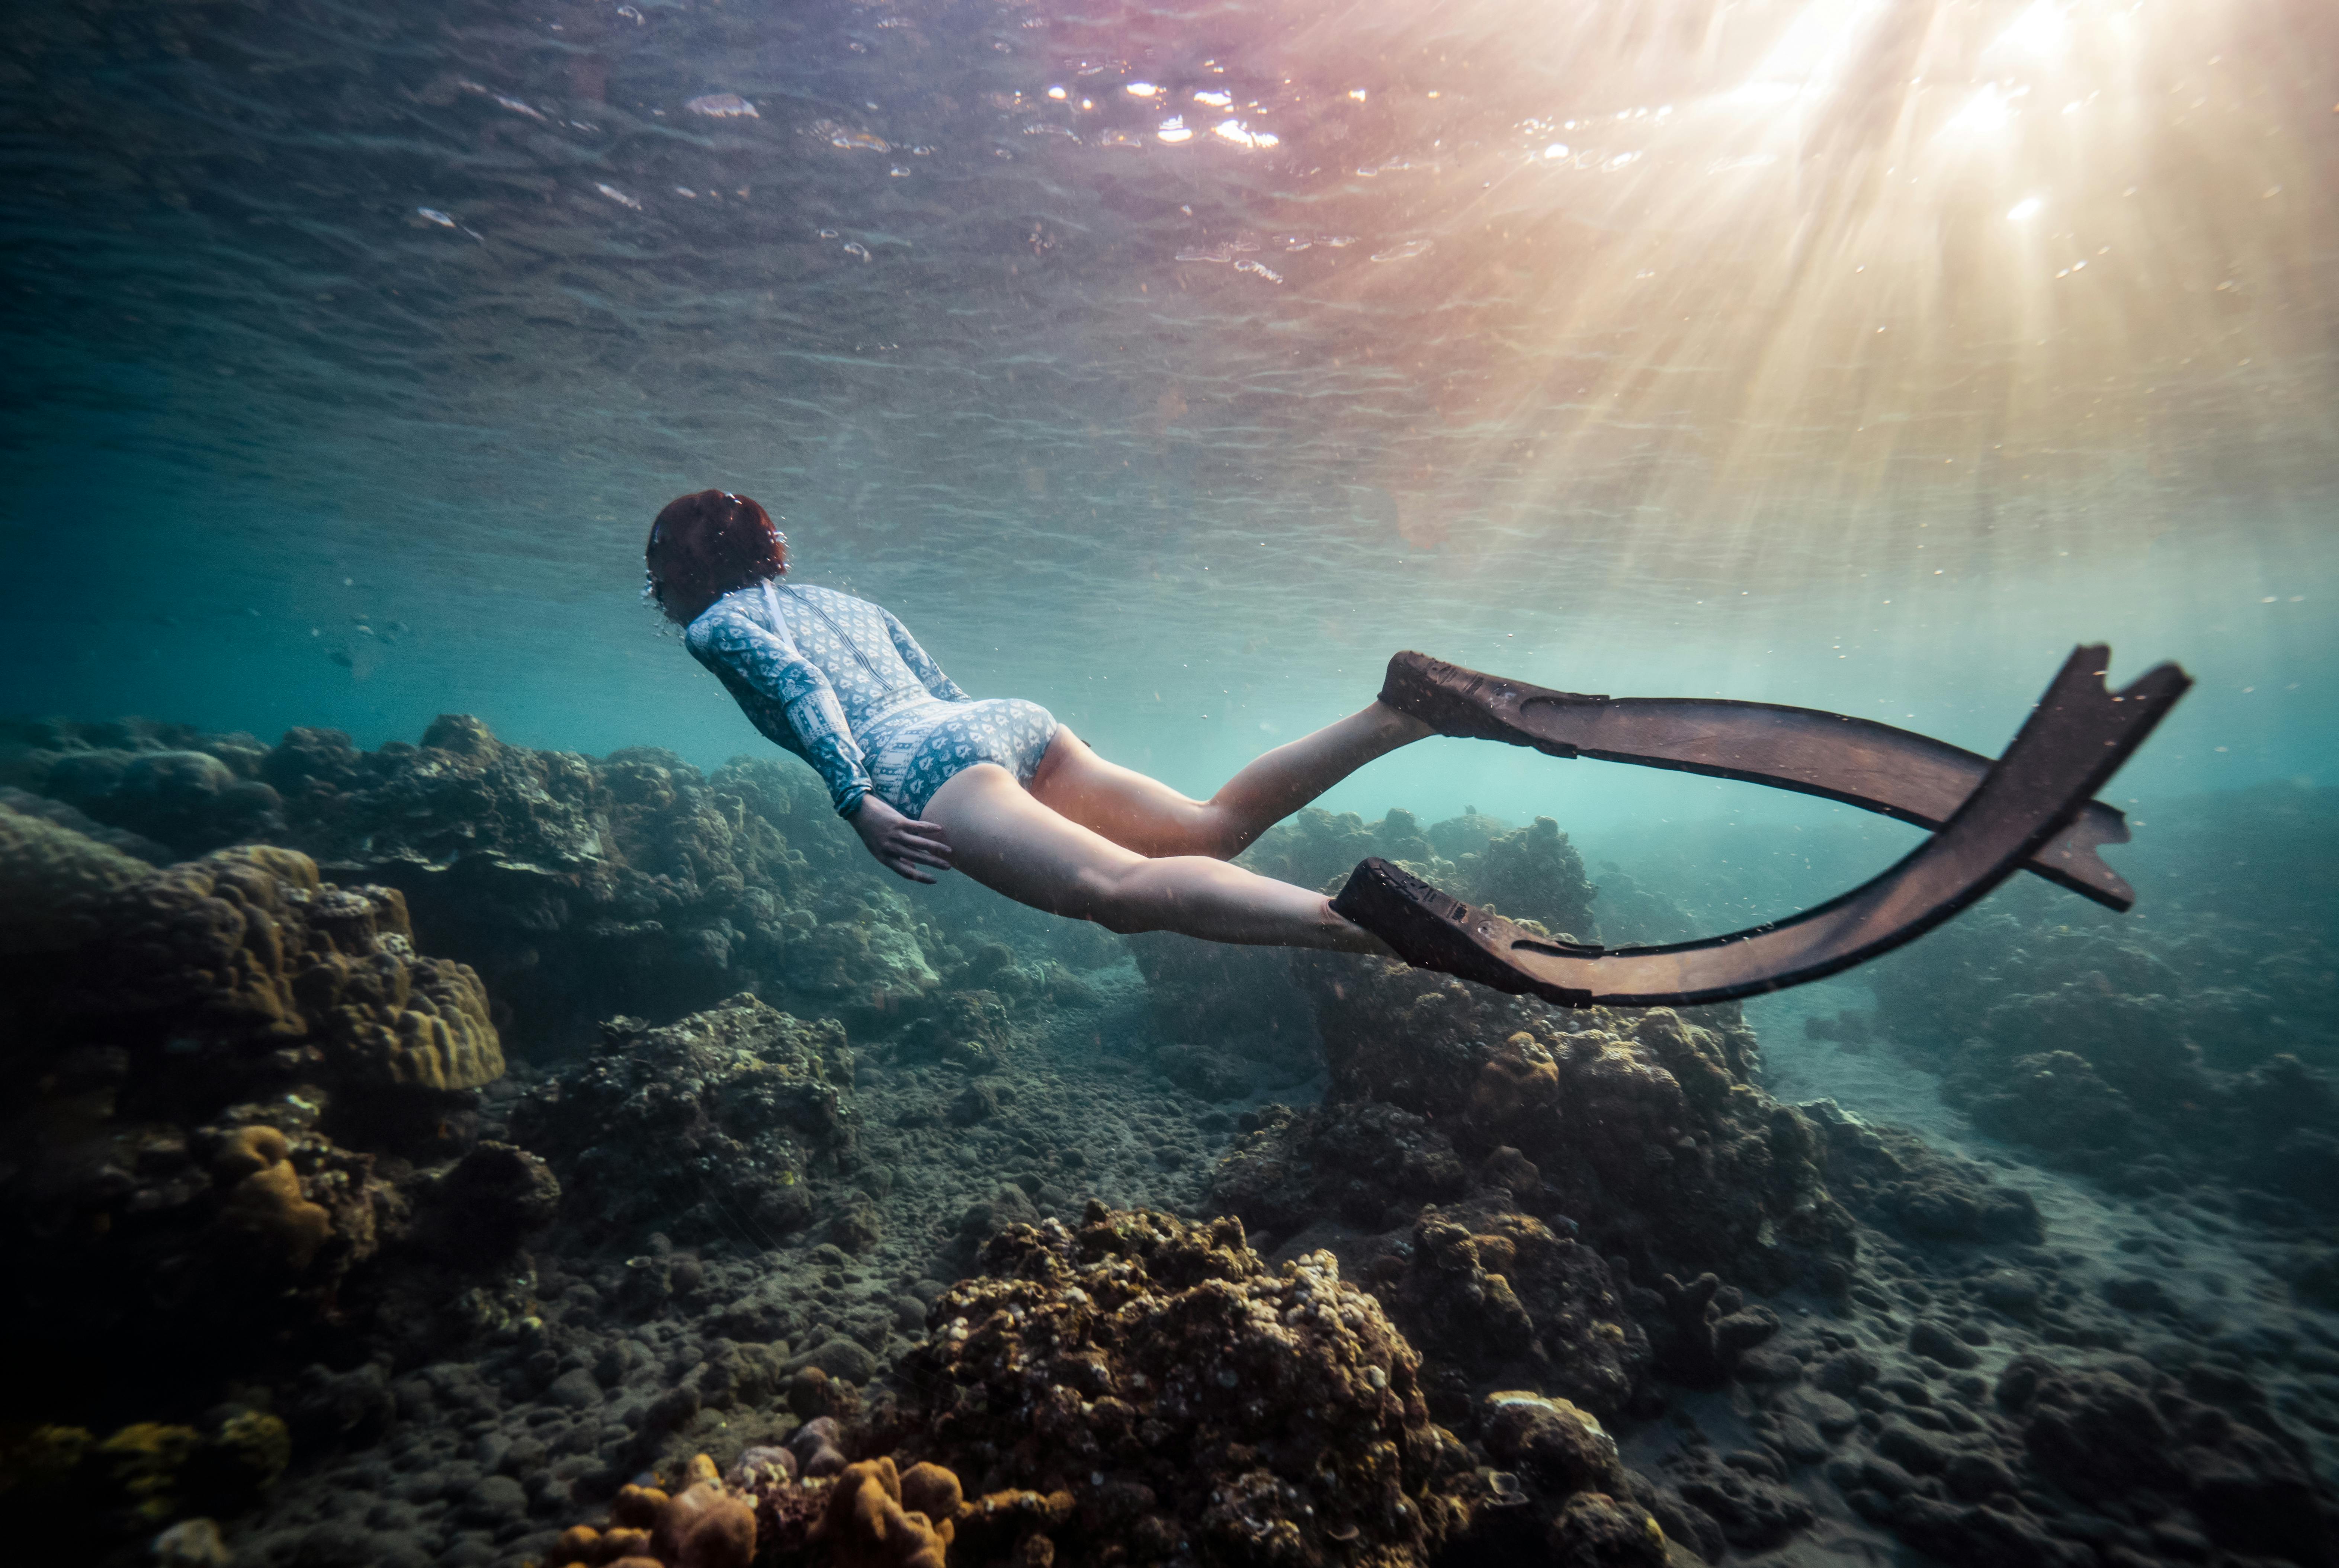
[[[1422,653],[1380,695],[1268,751],[1209,800],[1106,763],[1055,714],[968,697],[891,613],[781,583],[788,541],[720,489],[657,515],[648,594],[685,627],[755,728],[812,763],[884,866],[985,887],[1111,931],[1385,953],[1562,1006],[1729,1002],[1801,985],[1913,941],[2030,868],[2110,908],[2136,894],[2096,857],[2126,843],[2091,800],[2192,686],[2157,665],[2119,693],[2112,651],[2079,646],[1990,761],[1864,718],[1768,702],[1588,697]],[[1378,857],[1338,896],[1226,861],[1350,772],[1427,735],[1745,779],[1934,828],[1890,871],[1801,915],[1663,948],[1553,938],[1471,908]]]

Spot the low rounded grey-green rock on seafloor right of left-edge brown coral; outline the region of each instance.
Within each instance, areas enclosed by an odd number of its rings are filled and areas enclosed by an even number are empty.
[[[739,995],[662,1030],[610,1020],[510,1126],[552,1161],[561,1215],[585,1238],[770,1245],[814,1219],[816,1177],[854,1163],[851,1081],[842,1025]]]

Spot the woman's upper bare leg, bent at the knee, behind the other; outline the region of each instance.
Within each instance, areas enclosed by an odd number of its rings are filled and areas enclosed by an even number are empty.
[[[1064,728],[1055,733],[1031,777],[1031,796],[1123,850],[1223,861],[1375,756],[1429,733],[1420,718],[1375,702],[1315,735],[1275,747],[1209,800],[1188,800],[1160,779],[1106,763]]]

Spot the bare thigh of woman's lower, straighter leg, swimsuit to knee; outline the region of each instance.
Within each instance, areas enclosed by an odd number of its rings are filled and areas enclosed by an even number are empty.
[[[954,775],[933,791],[924,819],[950,838],[952,868],[1017,903],[1076,920],[1099,917],[1118,880],[1144,859],[1055,812],[996,763]]]

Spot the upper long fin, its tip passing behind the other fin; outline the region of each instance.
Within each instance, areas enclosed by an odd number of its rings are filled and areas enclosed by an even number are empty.
[[[1990,758],[1948,742],[1813,707],[1719,697],[1593,697],[1464,669],[1427,653],[1389,660],[1380,700],[1441,735],[1534,747],[1792,789],[1939,828],[1974,793]],[[2028,871],[2126,910],[2136,889],[2096,854],[2128,843],[2128,821],[2089,800],[2030,852]]]

